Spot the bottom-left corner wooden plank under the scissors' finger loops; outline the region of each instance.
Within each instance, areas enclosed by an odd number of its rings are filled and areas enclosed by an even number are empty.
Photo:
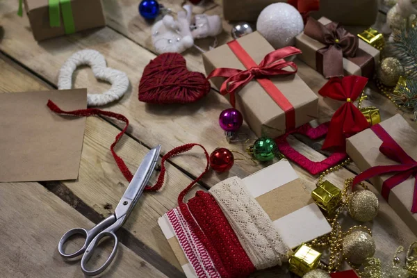
[[[79,261],[58,253],[60,237],[74,227],[93,223],[39,183],[1,183],[1,277],[83,277]],[[75,247],[75,245],[73,246]],[[109,246],[110,247],[110,246]],[[104,251],[109,254],[110,250]],[[120,244],[106,277],[166,277]]]

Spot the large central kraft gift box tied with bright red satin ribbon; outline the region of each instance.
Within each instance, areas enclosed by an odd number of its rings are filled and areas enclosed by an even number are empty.
[[[295,47],[275,50],[254,32],[204,53],[203,61],[208,78],[256,136],[275,138],[318,115],[318,97],[295,63],[283,60],[299,53]]]

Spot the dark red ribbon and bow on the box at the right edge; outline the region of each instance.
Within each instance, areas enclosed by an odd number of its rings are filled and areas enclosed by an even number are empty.
[[[410,176],[414,177],[414,193],[413,193],[413,205],[411,206],[411,212],[417,212],[417,161],[409,156],[400,145],[389,135],[388,132],[379,124],[371,126],[372,131],[382,140],[382,145],[379,147],[379,152],[384,154],[387,158],[400,163],[400,165],[383,165],[370,167],[368,170],[358,174],[353,179],[352,190],[357,183],[365,181],[380,174],[391,174],[392,177],[386,179],[382,183],[382,197],[387,201],[389,193],[395,186],[408,179]]]

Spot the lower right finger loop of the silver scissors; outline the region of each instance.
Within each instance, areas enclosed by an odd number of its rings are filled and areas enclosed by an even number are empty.
[[[117,244],[119,243],[119,240],[117,239],[117,236],[115,235],[114,231],[116,231],[119,227],[122,226],[124,218],[121,218],[117,220],[111,227],[108,227],[104,231],[101,231],[95,238],[93,238],[88,245],[87,249],[84,252],[83,258],[81,258],[81,270],[83,270],[85,275],[88,276],[96,276],[99,275],[101,272],[106,270],[108,265],[113,261],[116,255],[117,250]],[[95,270],[88,270],[87,269],[87,263],[91,259],[91,256],[94,254],[97,245],[99,244],[101,238],[113,238],[114,245],[113,250],[111,251],[110,255],[108,256],[107,260],[97,269]]]

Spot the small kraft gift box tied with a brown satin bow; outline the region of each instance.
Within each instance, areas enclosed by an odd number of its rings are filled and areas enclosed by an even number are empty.
[[[302,51],[300,60],[326,78],[372,78],[379,62],[379,50],[326,17],[310,17],[304,31],[295,37],[295,46]]]

